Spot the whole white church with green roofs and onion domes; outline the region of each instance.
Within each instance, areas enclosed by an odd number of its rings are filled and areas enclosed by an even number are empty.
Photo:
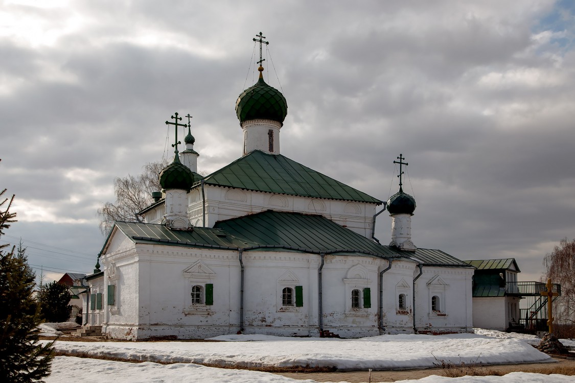
[[[243,156],[224,168],[198,175],[173,116],[186,149],[145,223],[115,223],[86,278],[85,322],[128,340],[471,331],[473,266],[415,246],[401,179],[384,203],[282,156],[287,102],[258,70],[236,102]],[[373,237],[382,205],[387,246]]]

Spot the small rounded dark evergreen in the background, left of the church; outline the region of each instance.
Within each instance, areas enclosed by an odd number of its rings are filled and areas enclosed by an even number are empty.
[[[70,318],[72,307],[68,286],[53,281],[43,285],[38,293],[40,314],[45,322],[66,322]]]

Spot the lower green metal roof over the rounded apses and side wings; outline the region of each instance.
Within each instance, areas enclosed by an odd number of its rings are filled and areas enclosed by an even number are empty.
[[[394,246],[379,245],[321,215],[269,210],[217,222],[213,229],[170,230],[151,223],[116,222],[114,230],[120,230],[134,243],[411,258],[428,266],[470,267],[440,250],[405,252]],[[109,239],[101,253],[106,251],[108,242]]]

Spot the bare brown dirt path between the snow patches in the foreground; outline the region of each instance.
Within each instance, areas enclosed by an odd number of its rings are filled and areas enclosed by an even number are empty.
[[[564,359],[555,359],[556,363],[525,363],[515,365],[497,365],[485,366],[489,370],[503,371],[503,372],[533,372],[536,369],[553,368],[557,366],[575,367],[575,361],[566,361]],[[332,372],[332,373],[278,373],[294,379],[312,379],[318,382],[350,382],[362,383],[369,381],[369,373],[367,371],[353,371],[353,372]],[[430,375],[443,376],[443,370],[440,368],[424,369],[424,370],[388,370],[388,371],[372,371],[372,382],[395,382],[398,380],[407,379],[420,379]]]

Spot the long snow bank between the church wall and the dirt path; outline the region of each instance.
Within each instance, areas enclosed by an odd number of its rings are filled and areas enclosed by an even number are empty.
[[[552,361],[520,339],[477,334],[381,335],[362,339],[217,337],[228,342],[66,342],[56,350],[155,362],[216,366],[312,366],[339,369],[413,369],[439,361],[506,364]],[[278,339],[279,338],[279,339]],[[257,340],[256,342],[250,340]]]

